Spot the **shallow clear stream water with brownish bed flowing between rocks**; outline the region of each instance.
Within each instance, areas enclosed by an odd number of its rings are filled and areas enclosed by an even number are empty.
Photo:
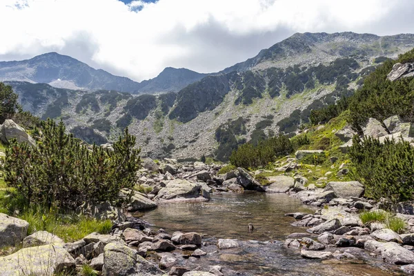
[[[313,212],[298,199],[284,194],[243,193],[213,195],[204,203],[161,204],[157,209],[140,214],[152,228],[197,232],[203,235],[208,255],[195,259],[181,251],[172,253],[179,266],[202,268],[220,265],[224,275],[400,275],[396,266],[386,266],[363,251],[362,259],[315,261],[303,259],[298,251],[283,246],[286,235],[306,232],[290,226],[295,221],[284,214]],[[248,233],[248,223],[255,226]],[[237,239],[239,248],[218,250],[219,238]],[[357,248],[354,248],[357,249]],[[355,252],[353,252],[355,254]]]

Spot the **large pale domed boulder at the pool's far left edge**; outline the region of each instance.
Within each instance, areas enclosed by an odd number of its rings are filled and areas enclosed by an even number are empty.
[[[170,199],[195,199],[206,193],[201,185],[191,183],[184,179],[175,179],[159,190],[155,200],[165,201]]]

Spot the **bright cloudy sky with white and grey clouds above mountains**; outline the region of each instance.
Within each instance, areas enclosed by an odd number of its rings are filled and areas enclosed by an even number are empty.
[[[141,81],[217,72],[295,32],[414,32],[412,0],[1,0],[0,60],[45,52]]]

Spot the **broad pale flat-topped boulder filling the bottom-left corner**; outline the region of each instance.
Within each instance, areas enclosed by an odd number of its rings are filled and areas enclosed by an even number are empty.
[[[48,244],[23,248],[12,255],[0,257],[0,264],[2,276],[70,275],[75,268],[75,259],[61,244]]]

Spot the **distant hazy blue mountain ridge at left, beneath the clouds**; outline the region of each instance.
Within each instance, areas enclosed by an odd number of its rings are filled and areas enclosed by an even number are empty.
[[[131,93],[177,92],[204,74],[180,68],[166,68],[158,77],[141,83],[96,70],[86,63],[56,52],[23,61],[1,61],[0,81],[48,83],[73,90],[117,90]]]

